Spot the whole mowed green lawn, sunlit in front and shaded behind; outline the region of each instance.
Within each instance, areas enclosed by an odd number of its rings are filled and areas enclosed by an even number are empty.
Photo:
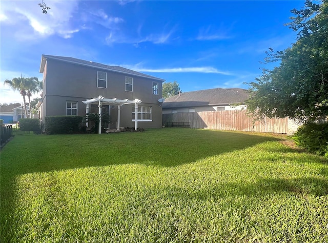
[[[328,164],[270,134],[15,136],[1,242],[328,242]]]

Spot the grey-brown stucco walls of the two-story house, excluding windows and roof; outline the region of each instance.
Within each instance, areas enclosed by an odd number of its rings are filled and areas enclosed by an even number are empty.
[[[107,88],[97,87],[97,71],[107,73]],[[86,115],[86,104],[83,101],[98,97],[118,99],[141,99],[139,106],[152,107],[152,122],[138,121],[138,127],[156,128],[162,125],[162,109],[158,99],[162,97],[162,83],[159,80],[113,72],[101,68],[81,66],[47,59],[44,72],[43,118],[45,116],[66,115],[66,102],[77,102],[77,115]],[[125,91],[125,77],[133,78],[133,91]],[[153,82],[158,83],[158,95],[153,94]],[[134,127],[132,107],[124,105],[120,108],[120,127]],[[117,127],[117,105],[109,107],[111,116],[110,128]]]

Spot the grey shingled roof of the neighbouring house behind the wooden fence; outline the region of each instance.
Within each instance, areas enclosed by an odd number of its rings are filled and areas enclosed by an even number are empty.
[[[163,102],[162,108],[228,106],[243,103],[248,97],[249,91],[239,88],[198,90],[171,96]]]

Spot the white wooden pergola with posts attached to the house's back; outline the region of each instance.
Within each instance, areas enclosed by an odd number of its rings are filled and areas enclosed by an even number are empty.
[[[119,122],[120,122],[120,108],[121,106],[124,105],[129,105],[129,104],[135,104],[135,124],[134,124],[134,129],[137,130],[138,128],[138,104],[141,103],[140,99],[134,99],[134,100],[129,100],[129,99],[107,99],[104,96],[99,95],[96,98],[92,99],[87,99],[86,101],[83,102],[84,104],[87,105],[87,110],[86,113],[89,113],[89,104],[98,104],[98,112],[99,112],[99,129],[98,133],[101,134],[101,107],[103,105],[117,105],[117,130],[119,130]],[[88,123],[86,124],[88,127]]]

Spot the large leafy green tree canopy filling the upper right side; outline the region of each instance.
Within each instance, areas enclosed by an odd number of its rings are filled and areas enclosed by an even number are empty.
[[[328,116],[328,2],[305,2],[291,11],[288,25],[298,31],[296,43],[284,51],[269,49],[265,62],[280,62],[250,83],[246,104],[258,117],[290,117],[302,122]]]

